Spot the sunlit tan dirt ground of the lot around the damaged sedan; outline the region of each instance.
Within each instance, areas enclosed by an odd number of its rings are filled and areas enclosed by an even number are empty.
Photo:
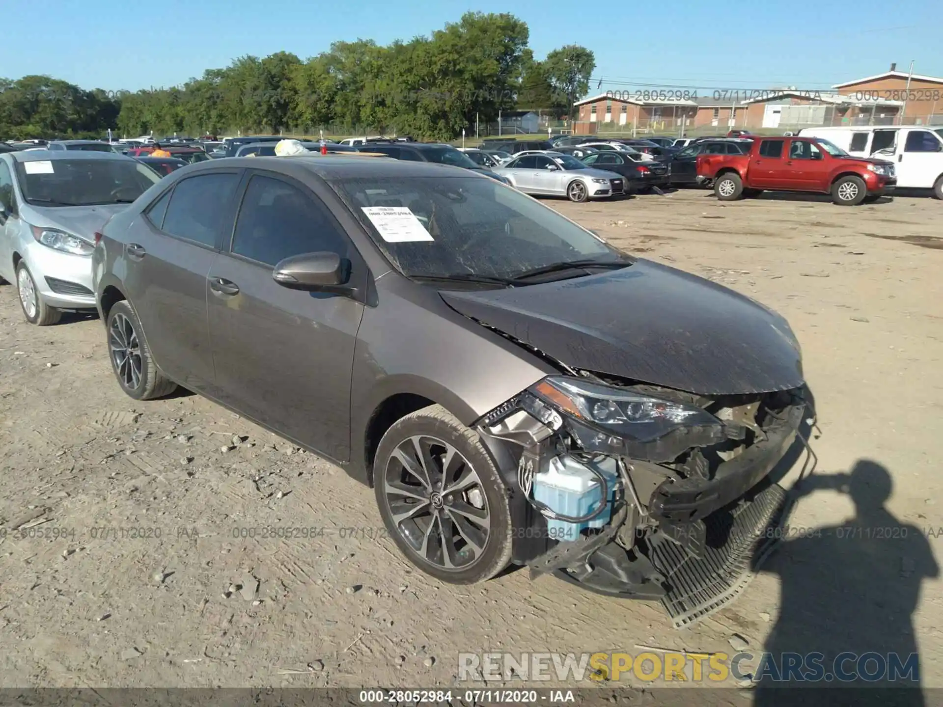
[[[943,203],[548,203],[799,336],[817,474],[854,470],[851,493],[808,493],[745,594],[676,631],[656,604],[525,571],[439,584],[372,539],[371,489],[199,397],[131,401],[100,321],[30,326],[4,286],[0,686],[450,685],[459,651],[732,652],[734,633],[752,649],[919,650],[923,683],[943,686]],[[856,538],[835,532],[849,518]],[[235,536],[273,525],[324,532]]]

